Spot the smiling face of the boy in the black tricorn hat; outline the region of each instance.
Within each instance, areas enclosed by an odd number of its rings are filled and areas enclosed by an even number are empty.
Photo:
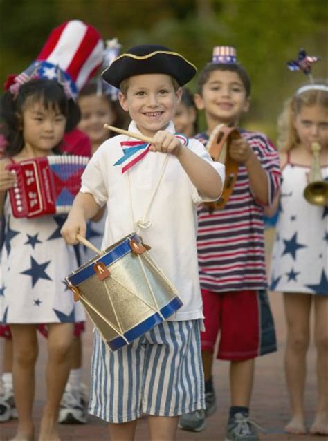
[[[181,88],[174,90],[172,78],[161,73],[134,75],[128,79],[126,95],[119,93],[122,108],[141,133],[154,136],[173,119],[181,99]]]

